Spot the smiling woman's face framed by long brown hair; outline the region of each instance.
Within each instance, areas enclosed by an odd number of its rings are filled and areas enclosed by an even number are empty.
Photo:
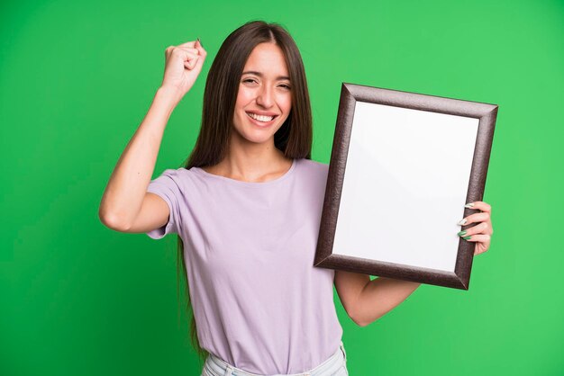
[[[284,53],[274,43],[259,43],[243,68],[233,114],[242,138],[263,143],[287,120],[292,91]]]

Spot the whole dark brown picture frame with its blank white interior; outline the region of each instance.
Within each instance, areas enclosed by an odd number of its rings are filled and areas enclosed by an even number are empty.
[[[497,110],[342,83],[314,266],[468,290]]]

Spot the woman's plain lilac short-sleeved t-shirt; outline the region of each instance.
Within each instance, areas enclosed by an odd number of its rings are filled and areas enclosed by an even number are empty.
[[[341,343],[332,269],[314,266],[329,166],[294,159],[285,175],[242,182],[199,167],[167,169],[148,192],[182,237],[200,345],[244,371],[299,373]]]

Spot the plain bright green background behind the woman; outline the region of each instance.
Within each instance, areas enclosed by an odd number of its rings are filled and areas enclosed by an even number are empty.
[[[200,374],[178,318],[176,236],[115,232],[97,210],[160,85],[164,50],[200,37],[208,58],[168,122],[155,176],[193,148],[212,59],[252,19],[281,22],[301,49],[315,160],[329,162],[341,82],[499,105],[484,196],[495,234],[469,291],[423,285],[368,327],[335,293],[350,374],[564,374],[562,1],[0,10],[0,374]]]

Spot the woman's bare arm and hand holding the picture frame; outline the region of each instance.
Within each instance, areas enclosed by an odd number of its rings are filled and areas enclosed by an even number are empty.
[[[465,240],[476,242],[474,255],[487,251],[494,233],[491,220],[491,206],[484,201],[466,205],[481,210],[459,221],[460,226],[470,223],[477,225],[460,231],[457,235]],[[378,277],[370,281],[367,274],[335,271],[335,288],[349,317],[360,327],[381,318],[404,301],[421,283]]]

